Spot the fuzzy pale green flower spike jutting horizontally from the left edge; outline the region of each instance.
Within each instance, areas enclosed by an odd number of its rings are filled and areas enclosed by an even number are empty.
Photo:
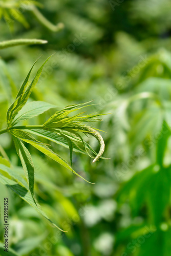
[[[0,42],[0,50],[5,49],[12,46],[21,46],[21,45],[41,45],[47,44],[46,40],[39,39],[14,39]]]

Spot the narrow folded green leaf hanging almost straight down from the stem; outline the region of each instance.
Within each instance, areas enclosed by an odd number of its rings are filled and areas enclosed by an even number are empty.
[[[23,169],[25,171],[25,175],[28,181],[30,193],[35,201],[34,196],[34,165],[31,158],[31,155],[25,145],[19,141],[16,137],[13,136],[15,148],[20,161],[22,162]]]

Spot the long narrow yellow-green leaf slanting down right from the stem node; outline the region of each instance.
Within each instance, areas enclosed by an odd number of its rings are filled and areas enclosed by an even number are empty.
[[[77,174],[65,160],[63,160],[60,156],[58,156],[56,153],[54,153],[46,144],[43,144],[43,143],[35,140],[30,134],[28,134],[22,130],[12,129],[12,130],[9,130],[9,132],[12,135],[14,135],[15,137],[31,144],[32,146],[37,148],[37,150],[39,150],[40,152],[42,152],[45,155],[47,155],[48,157],[52,158],[53,160],[55,160],[59,164],[63,165],[67,169],[71,170],[71,172],[76,174],[78,177],[82,178],[84,181],[87,181],[86,179],[81,177],[79,174]],[[87,182],[89,182],[89,181],[87,181]],[[91,183],[91,182],[89,182],[89,183]]]

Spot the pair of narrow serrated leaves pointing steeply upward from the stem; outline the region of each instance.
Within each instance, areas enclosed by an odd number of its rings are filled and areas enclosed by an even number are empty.
[[[50,58],[50,57],[49,57]],[[42,69],[44,68],[46,62],[49,60],[49,58],[43,63],[43,65],[38,69],[34,79],[32,80],[32,82],[30,83],[29,87],[26,90],[27,87],[27,83],[28,83],[28,79],[31,73],[31,70],[29,72],[29,74],[27,75],[22,88],[19,90],[18,92],[18,97],[15,99],[15,101],[12,103],[12,105],[10,106],[8,112],[7,112],[7,124],[8,126],[11,125],[13,119],[15,118],[15,116],[17,115],[17,113],[23,108],[23,106],[26,104],[33,88],[36,86],[39,77],[41,75]],[[35,63],[33,64],[33,66],[35,65]]]

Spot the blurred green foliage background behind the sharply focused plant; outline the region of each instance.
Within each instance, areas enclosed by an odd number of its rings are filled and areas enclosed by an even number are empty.
[[[9,255],[169,256],[170,2],[37,1],[39,12],[51,25],[65,24],[58,33],[28,10],[33,1],[23,1],[22,7],[21,2],[0,1],[1,40],[37,38],[48,40],[48,44],[1,50],[1,129],[34,60],[55,53],[31,99],[59,109],[93,99],[95,105],[88,112],[112,114],[96,124],[106,132],[105,157],[111,159],[92,165],[89,157],[74,152],[74,168],[96,183],[92,185],[27,145],[41,208],[68,232],[51,227],[2,185],[1,200],[9,197],[10,202]],[[20,18],[4,3],[15,4],[12,8]],[[53,113],[49,110],[29,124],[41,124]],[[98,151],[96,140],[87,141]],[[16,172],[22,172],[10,135],[1,135],[0,144],[2,157],[8,155],[18,166]],[[70,159],[68,149],[52,146]],[[0,232],[3,241],[2,225]]]

